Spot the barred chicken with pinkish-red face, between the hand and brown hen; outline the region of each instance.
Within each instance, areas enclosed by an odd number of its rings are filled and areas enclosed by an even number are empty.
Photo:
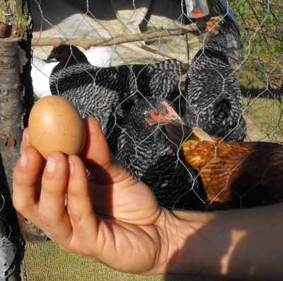
[[[116,158],[144,181],[168,209],[194,209],[200,200],[200,183],[187,164],[178,161],[164,126],[180,117],[161,98],[141,99],[125,117],[125,145]]]

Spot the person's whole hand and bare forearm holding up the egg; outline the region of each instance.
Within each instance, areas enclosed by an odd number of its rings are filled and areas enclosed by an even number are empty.
[[[115,161],[98,121],[85,122],[81,158],[53,151],[46,166],[28,129],[23,134],[13,204],[50,239],[127,273],[282,280],[282,204],[210,214],[169,212]]]

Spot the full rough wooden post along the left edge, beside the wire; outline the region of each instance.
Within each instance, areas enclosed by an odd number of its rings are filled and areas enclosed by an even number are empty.
[[[13,168],[20,157],[23,129],[33,106],[30,77],[32,20],[28,0],[5,0],[0,5],[0,153],[12,194]],[[37,243],[47,237],[17,214],[23,239]]]

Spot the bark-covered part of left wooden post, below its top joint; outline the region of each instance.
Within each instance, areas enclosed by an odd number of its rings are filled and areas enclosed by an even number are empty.
[[[0,39],[0,153],[11,194],[13,168],[20,158],[23,129],[33,105],[29,54],[23,38]],[[17,217],[23,239],[33,243],[47,239],[21,214]]]

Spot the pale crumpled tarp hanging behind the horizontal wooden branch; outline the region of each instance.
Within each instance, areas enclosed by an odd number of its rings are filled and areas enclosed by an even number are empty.
[[[33,38],[115,38],[190,23],[179,0],[32,0],[30,6],[35,23]],[[187,63],[201,47],[198,35],[189,33],[115,45],[111,64],[146,64],[164,58]],[[35,47],[34,54],[44,59],[51,48]]]

